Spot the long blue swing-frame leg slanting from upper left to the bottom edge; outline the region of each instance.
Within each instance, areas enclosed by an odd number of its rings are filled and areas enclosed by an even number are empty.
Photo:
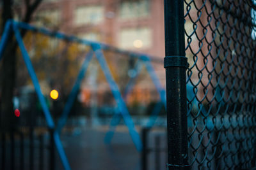
[[[42,109],[43,109],[43,112],[44,112],[44,115],[45,115],[47,125],[50,129],[54,129],[54,122],[52,120],[51,113],[49,111],[49,108],[47,107],[44,96],[43,96],[42,91],[40,89],[40,84],[38,83],[38,79],[36,78],[35,70],[33,69],[31,61],[29,59],[29,55],[28,55],[26,47],[24,46],[24,43],[22,41],[22,37],[20,36],[19,28],[17,27],[17,24],[15,22],[13,22],[12,25],[13,25],[13,31],[15,32],[15,37],[16,37],[17,42],[18,42],[19,47],[20,47],[20,51],[22,53],[22,57],[24,59],[26,67],[28,68],[28,72],[29,72],[29,75],[30,75],[31,80],[33,82],[33,85],[35,87],[36,94],[38,96],[40,104],[42,105]],[[60,136],[56,132],[54,132],[54,142],[55,142],[56,148],[58,150],[58,153],[60,155],[60,159],[61,159],[61,162],[63,164],[63,167],[66,170],[69,170],[70,166],[68,164],[67,156],[65,155],[63,146],[61,144]]]

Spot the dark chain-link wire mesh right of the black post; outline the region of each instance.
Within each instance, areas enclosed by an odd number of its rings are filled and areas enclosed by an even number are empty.
[[[184,1],[192,169],[255,167],[255,4]]]

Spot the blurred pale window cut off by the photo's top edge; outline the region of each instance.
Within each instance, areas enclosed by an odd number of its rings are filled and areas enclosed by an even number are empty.
[[[149,0],[136,1],[121,1],[120,4],[120,18],[132,19],[148,17],[149,15]]]

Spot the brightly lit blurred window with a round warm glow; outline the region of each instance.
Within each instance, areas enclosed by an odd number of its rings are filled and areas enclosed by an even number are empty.
[[[152,44],[152,31],[148,27],[122,29],[118,40],[121,48],[148,48]]]

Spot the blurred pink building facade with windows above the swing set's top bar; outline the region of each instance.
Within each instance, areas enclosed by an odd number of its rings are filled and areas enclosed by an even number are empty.
[[[33,18],[36,25],[163,57],[163,8],[158,0],[46,0]]]

